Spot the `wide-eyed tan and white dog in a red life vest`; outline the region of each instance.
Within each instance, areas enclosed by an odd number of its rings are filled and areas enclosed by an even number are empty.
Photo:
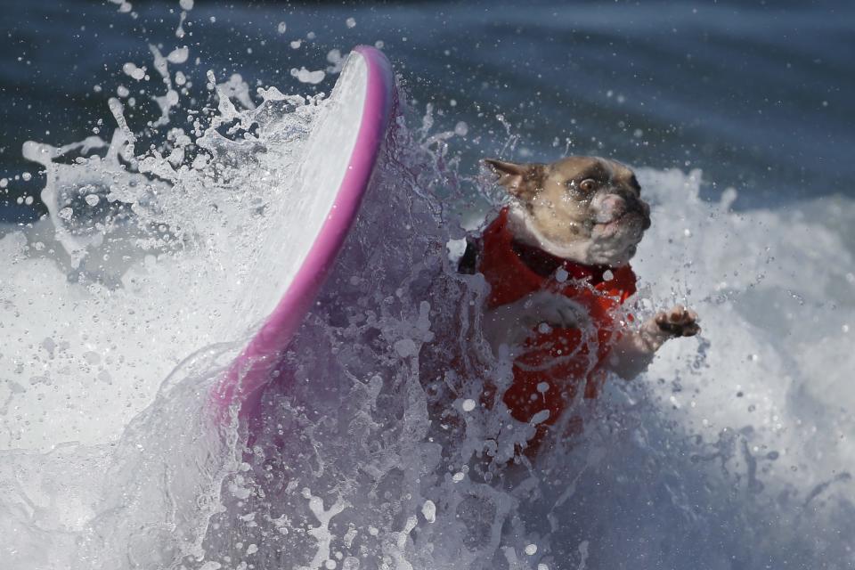
[[[583,156],[485,164],[511,199],[467,240],[458,270],[490,285],[485,339],[513,359],[502,399],[515,419],[537,425],[535,449],[580,390],[596,397],[608,371],[635,378],[665,342],[701,328],[682,305],[640,326],[623,308],[635,293],[630,260],[650,226],[631,168]]]

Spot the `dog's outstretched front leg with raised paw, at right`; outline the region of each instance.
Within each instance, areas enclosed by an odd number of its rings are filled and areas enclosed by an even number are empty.
[[[623,379],[631,380],[647,370],[657,350],[666,340],[694,337],[701,331],[697,314],[677,305],[670,311],[660,311],[642,323],[639,330],[623,333],[612,348],[609,368]]]

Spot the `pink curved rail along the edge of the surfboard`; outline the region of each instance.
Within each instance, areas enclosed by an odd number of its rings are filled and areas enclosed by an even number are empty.
[[[303,321],[344,245],[371,181],[392,114],[395,79],[386,56],[373,47],[357,46],[350,57],[362,58],[367,77],[362,119],[344,178],[332,208],[285,293],[213,389],[214,411],[221,420],[230,417],[233,406],[239,407],[241,418],[247,418],[256,409],[281,351]]]

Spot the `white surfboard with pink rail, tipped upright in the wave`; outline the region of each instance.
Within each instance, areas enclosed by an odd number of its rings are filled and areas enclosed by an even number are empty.
[[[230,418],[235,406],[243,418],[256,409],[281,351],[334,265],[386,138],[394,86],[391,64],[379,50],[357,46],[348,55],[306,142],[292,189],[295,199],[289,199],[283,219],[268,229],[266,243],[277,256],[273,271],[278,274],[247,280],[264,281],[253,304],[271,309],[212,392],[219,418]],[[277,231],[286,224],[297,224],[299,231]]]

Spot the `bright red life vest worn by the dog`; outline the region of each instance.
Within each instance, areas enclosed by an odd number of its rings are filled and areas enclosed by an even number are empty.
[[[626,324],[616,309],[635,293],[636,276],[629,265],[580,265],[527,246],[514,239],[508,215],[508,208],[502,208],[482,238],[478,271],[491,287],[488,308],[548,290],[582,305],[592,325],[536,330],[514,361],[514,379],[503,401],[519,421],[528,422],[538,412],[550,411],[549,419],[540,424],[543,427],[558,421],[582,383],[584,397],[597,396],[605,377],[602,366]],[[563,282],[557,279],[559,268],[566,272]],[[611,273],[608,280],[607,272]],[[623,319],[631,320],[631,316]],[[542,437],[543,430],[539,428],[536,439]]]

